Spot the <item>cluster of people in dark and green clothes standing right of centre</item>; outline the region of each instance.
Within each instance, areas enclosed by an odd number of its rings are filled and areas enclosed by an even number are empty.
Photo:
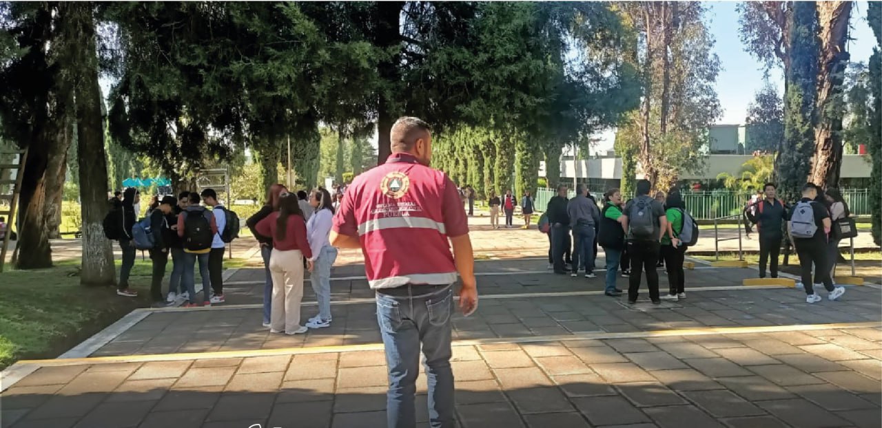
[[[559,275],[570,272],[572,277],[577,277],[581,269],[585,277],[596,277],[594,263],[599,245],[606,255],[605,295],[622,295],[616,287],[621,269],[622,276],[629,278],[629,303],[637,301],[643,272],[654,304],[662,299],[685,299],[683,265],[687,246],[680,235],[691,222],[686,221],[689,217],[677,188],[669,191],[663,203],[649,196],[650,189],[649,181],[638,181],[637,196],[624,203],[619,189],[611,188],[603,194],[599,208],[586,185],[577,185],[572,199],[567,198],[566,186],[559,186],[540,220],[540,230],[549,233],[549,269]],[[670,288],[664,296],[659,294],[656,272],[660,259],[668,265]]]

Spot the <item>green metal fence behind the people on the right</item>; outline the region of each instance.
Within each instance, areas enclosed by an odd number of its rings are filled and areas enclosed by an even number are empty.
[[[600,200],[605,190],[590,189],[591,193]],[[867,188],[843,188],[842,197],[848,203],[848,209],[854,216],[870,215],[870,190]],[[536,208],[544,210],[548,206],[551,196],[557,192],[550,188],[540,188],[536,191]],[[575,196],[570,190],[569,196]],[[744,205],[750,201],[751,193],[733,192],[731,190],[710,191],[687,191],[683,194],[683,202],[693,218],[709,220],[741,213]]]

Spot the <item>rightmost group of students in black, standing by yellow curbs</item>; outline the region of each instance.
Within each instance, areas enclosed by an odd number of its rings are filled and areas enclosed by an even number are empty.
[[[851,213],[840,190],[827,188],[825,192],[814,183],[806,183],[803,197],[793,206],[776,197],[774,183],[766,183],[763,192],[765,197],[744,210],[744,217],[757,225],[759,232],[759,277],[766,277],[766,264],[771,276],[778,277],[778,256],[786,229],[799,257],[806,302],[821,300],[814,289],[822,284],[830,300],[839,299],[845,292],[845,288],[833,284],[839,244],[843,238],[856,234],[854,224],[849,224]]]

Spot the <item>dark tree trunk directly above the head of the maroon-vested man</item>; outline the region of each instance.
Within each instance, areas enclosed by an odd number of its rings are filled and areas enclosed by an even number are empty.
[[[399,48],[401,42],[400,15],[404,2],[377,2],[377,22],[375,27],[374,45],[381,49]],[[400,49],[400,48],[399,48]],[[389,59],[379,63],[380,80],[392,88],[401,85],[400,81],[400,50]],[[395,91],[381,91],[377,102],[377,165],[383,165],[389,155],[392,154],[392,145],[389,133],[392,123],[395,122],[393,114],[393,102],[386,99],[387,93]]]

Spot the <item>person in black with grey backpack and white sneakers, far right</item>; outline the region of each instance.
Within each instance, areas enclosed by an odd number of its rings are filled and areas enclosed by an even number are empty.
[[[811,282],[811,265],[815,265],[815,277],[824,284],[830,300],[839,299],[845,293],[844,287],[834,287],[830,278],[829,262],[827,262],[827,234],[832,222],[830,214],[820,203],[818,187],[813,183],[803,186],[803,198],[790,210],[788,232],[790,240],[799,255],[799,267],[803,278],[807,303],[817,303],[821,297],[814,291]]]

